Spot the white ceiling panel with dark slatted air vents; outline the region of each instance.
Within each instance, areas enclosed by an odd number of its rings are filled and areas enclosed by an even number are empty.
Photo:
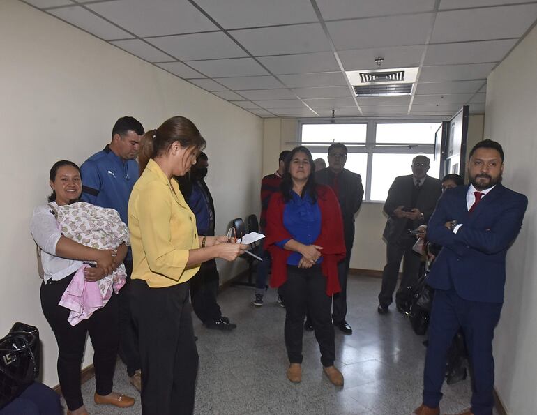
[[[418,68],[347,71],[357,97],[410,95]]]

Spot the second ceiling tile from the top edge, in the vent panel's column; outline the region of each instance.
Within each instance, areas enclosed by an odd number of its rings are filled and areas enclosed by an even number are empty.
[[[420,45],[430,31],[431,17],[431,13],[400,15],[328,22],[326,26],[337,50]]]

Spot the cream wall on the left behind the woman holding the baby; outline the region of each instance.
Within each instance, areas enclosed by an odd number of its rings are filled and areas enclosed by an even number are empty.
[[[0,337],[17,320],[38,326],[43,379],[54,386],[56,342],[40,309],[29,234],[33,207],[50,193],[50,166],[61,158],[80,164],[103,149],[119,116],[146,129],[187,116],[209,143],[207,183],[222,233],[228,220],[259,211],[263,121],[15,0],[0,2],[0,56]],[[222,280],[239,266],[220,266]],[[89,346],[84,366],[91,354]]]

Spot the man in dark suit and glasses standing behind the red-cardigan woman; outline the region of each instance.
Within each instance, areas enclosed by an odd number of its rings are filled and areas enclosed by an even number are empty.
[[[341,292],[334,295],[332,319],[334,325],[343,333],[352,334],[351,326],[345,320],[347,317],[347,273],[354,242],[354,215],[362,204],[363,186],[360,174],[344,168],[346,161],[347,146],[341,143],[331,144],[328,147],[328,167],[316,172],[315,180],[317,183],[330,186],[340,202],[347,255],[345,260],[338,264]]]

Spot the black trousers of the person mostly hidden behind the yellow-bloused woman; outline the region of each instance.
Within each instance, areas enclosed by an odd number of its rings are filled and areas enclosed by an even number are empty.
[[[222,317],[220,306],[216,302],[219,285],[220,276],[214,259],[203,262],[197,274],[190,280],[192,308],[204,324]]]

